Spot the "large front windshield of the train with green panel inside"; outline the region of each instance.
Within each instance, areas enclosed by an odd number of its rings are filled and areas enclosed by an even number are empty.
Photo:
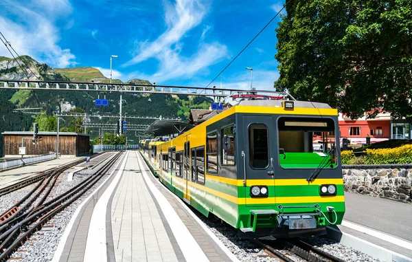
[[[334,120],[282,117],[277,122],[283,168],[336,167]]]

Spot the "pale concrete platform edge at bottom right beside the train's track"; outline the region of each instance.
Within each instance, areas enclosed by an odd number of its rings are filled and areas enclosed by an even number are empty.
[[[337,227],[328,226],[327,232],[329,239],[333,239],[342,245],[364,252],[365,254],[372,256],[374,259],[380,259],[382,261],[412,262],[412,258],[382,248],[374,243],[355,237],[352,234],[342,232]]]

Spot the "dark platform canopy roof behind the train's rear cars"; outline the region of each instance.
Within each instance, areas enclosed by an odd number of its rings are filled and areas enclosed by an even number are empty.
[[[175,133],[180,135],[193,127],[193,124],[187,124],[185,122],[156,120],[146,128],[144,133],[151,133],[155,136],[173,135]]]

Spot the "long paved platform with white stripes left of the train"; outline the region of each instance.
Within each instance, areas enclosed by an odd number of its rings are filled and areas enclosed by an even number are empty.
[[[53,261],[238,259],[160,184],[138,151],[126,151],[106,182],[76,210]]]

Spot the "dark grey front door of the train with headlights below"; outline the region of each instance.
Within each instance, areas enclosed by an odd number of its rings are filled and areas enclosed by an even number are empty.
[[[267,204],[265,195],[273,197],[275,185],[273,120],[271,116],[243,116],[242,120],[245,204]]]

